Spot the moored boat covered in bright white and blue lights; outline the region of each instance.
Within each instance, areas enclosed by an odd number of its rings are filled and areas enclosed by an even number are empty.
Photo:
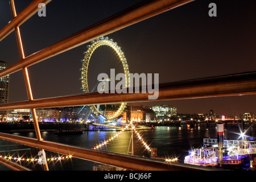
[[[239,166],[249,155],[256,154],[256,142],[247,140],[224,140],[223,164],[225,166]],[[193,148],[188,151],[184,163],[196,166],[218,166],[217,139],[204,138],[201,148]]]

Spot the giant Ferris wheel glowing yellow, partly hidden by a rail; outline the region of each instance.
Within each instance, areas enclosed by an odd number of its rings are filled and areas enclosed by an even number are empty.
[[[80,80],[81,80],[81,84],[82,84],[82,88],[81,88],[82,92],[84,92],[84,93],[89,93],[90,92],[89,91],[89,86],[88,86],[89,61],[90,61],[90,59],[93,55],[93,52],[101,46],[109,46],[110,48],[112,48],[114,50],[114,52],[116,53],[119,61],[121,61],[122,65],[123,65],[123,72],[125,73],[125,78],[126,78],[125,79],[125,85],[126,85],[127,88],[129,88],[129,85],[130,85],[129,68],[128,68],[128,64],[127,64],[125,55],[121,50],[121,47],[118,47],[117,43],[113,42],[113,39],[109,39],[108,37],[103,37],[102,36],[101,38],[97,38],[96,40],[92,40],[91,45],[87,46],[88,50],[86,52],[84,52],[84,55],[85,55],[84,59],[81,60],[82,68],[80,69],[81,70]],[[100,81],[104,81],[106,83],[109,80],[100,80]],[[104,86],[102,86],[102,89],[104,89]],[[93,90],[91,92],[93,92]],[[126,102],[122,102],[119,105],[120,106],[118,106],[117,111],[115,111],[113,114],[106,114],[106,113],[102,112],[100,110],[100,105],[90,106],[90,112],[94,113],[95,115],[101,114],[106,119],[114,119],[114,118],[117,118],[120,114],[122,114],[123,110],[126,107]]]

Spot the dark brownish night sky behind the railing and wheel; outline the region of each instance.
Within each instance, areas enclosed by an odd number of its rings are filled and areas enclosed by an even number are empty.
[[[15,1],[17,13],[30,2]],[[20,26],[25,55],[138,2],[141,1],[52,0],[46,6],[46,17],[35,14]],[[208,15],[211,2],[217,5],[217,17]],[[251,0],[194,1],[108,36],[125,52],[131,73],[159,73],[160,83],[251,72],[256,71],[255,7],[256,1]],[[0,28],[11,19],[9,1],[0,0]],[[82,93],[79,69],[87,45],[28,67],[34,98]],[[9,65],[19,61],[14,32],[0,42],[0,60]],[[118,69],[120,65],[112,62],[92,61],[91,70],[97,73],[106,68],[105,64]],[[9,101],[27,100],[22,72],[13,73],[10,79]],[[236,96],[143,104],[173,105],[178,113],[209,113],[212,109],[218,114],[238,115],[246,111],[256,113],[255,101],[256,96]]]

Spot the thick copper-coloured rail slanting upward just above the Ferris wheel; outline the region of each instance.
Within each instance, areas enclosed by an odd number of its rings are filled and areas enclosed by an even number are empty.
[[[181,6],[185,3],[192,1],[194,0],[144,1],[142,3],[139,3],[138,5],[122,11],[121,13],[113,15],[110,18],[102,20],[101,22],[96,23],[93,26],[85,28],[84,30],[77,32],[76,34],[71,35],[66,39],[63,39],[60,42],[53,44],[52,46],[42,49],[41,51],[36,52],[13,65],[10,65],[9,67],[0,72],[0,77],[10,75],[11,73],[23,69],[24,67],[29,67],[33,64],[39,63],[40,61],[46,60],[49,57],[56,56],[60,53],[68,51],[69,49],[88,43],[91,40],[97,39],[104,35],[108,35],[114,31],[130,26],[131,24],[141,22],[144,19],[151,18],[152,16],[158,15],[167,10],[174,9],[177,6]],[[25,17],[27,18],[27,16]],[[18,26],[20,22],[21,21],[19,21],[18,23],[13,23],[13,26],[11,26],[12,31],[14,30],[14,27]]]

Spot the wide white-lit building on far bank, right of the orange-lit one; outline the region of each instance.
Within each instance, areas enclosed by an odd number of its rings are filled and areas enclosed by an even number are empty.
[[[177,115],[177,108],[170,105],[156,105],[151,107],[157,120],[167,121],[168,118]]]

